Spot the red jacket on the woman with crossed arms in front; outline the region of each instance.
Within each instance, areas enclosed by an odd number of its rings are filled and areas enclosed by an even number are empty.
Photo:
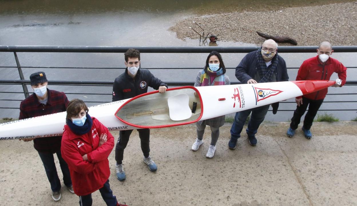
[[[114,137],[96,118],[92,117],[92,130],[77,135],[65,125],[62,136],[61,154],[70,170],[73,190],[78,196],[85,196],[103,187],[109,179],[108,156],[114,147]],[[99,145],[99,137],[106,133],[107,142]],[[87,154],[88,161],[82,156]]]

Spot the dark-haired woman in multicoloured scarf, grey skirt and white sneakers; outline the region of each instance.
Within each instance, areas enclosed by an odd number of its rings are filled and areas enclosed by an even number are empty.
[[[221,54],[213,51],[207,59],[205,67],[198,72],[195,86],[216,86],[216,85],[229,85],[230,80],[225,74],[226,68],[223,64]],[[219,116],[208,120],[198,121],[197,126],[197,138],[195,143],[192,144],[192,150],[197,151],[203,144],[203,133],[205,132],[206,125],[211,128],[211,144],[208,148],[206,157],[212,158],[215,155],[216,143],[220,136],[220,127],[225,122],[225,116]]]

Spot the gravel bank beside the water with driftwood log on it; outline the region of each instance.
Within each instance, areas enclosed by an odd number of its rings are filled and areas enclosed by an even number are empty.
[[[253,43],[260,45],[264,38],[256,31],[272,36],[288,36],[298,42],[298,46],[316,46],[321,41],[332,45],[356,45],[357,3],[329,4],[321,6],[291,7],[273,11],[231,12],[209,16],[192,15],[178,21],[169,30],[177,37],[198,39],[197,33],[188,27],[200,28],[199,23],[220,41]],[[281,43],[282,46],[291,46]]]

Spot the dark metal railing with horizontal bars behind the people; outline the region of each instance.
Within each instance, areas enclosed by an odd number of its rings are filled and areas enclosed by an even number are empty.
[[[12,52],[14,53],[16,67],[0,65],[0,68],[17,68],[20,76],[20,80],[0,80],[0,85],[21,85],[23,91],[1,91],[0,93],[19,94],[23,93],[25,97],[29,96],[27,86],[30,84],[29,80],[25,80],[22,73],[22,68],[45,68],[45,69],[125,69],[117,67],[36,67],[36,66],[22,66],[20,65],[17,57],[17,52],[77,52],[77,53],[124,53],[129,48],[136,48],[140,50],[140,53],[210,53],[211,51],[217,51],[220,53],[248,53],[256,51],[260,47],[119,47],[119,46],[0,46],[0,52]],[[316,46],[281,46],[279,47],[279,53],[312,53],[316,52]],[[357,46],[334,46],[334,52],[357,52]],[[357,68],[357,67],[347,67]],[[147,69],[202,69],[202,68],[147,68]],[[226,68],[235,69],[235,68]],[[298,69],[297,67],[289,67],[288,69]],[[81,85],[81,86],[112,86],[114,81],[49,81],[51,85]],[[193,82],[172,81],[165,83],[168,86],[185,86],[193,85]],[[232,81],[231,84],[240,84],[239,81]],[[357,85],[357,81],[347,81],[346,86]],[[111,95],[102,93],[66,93],[75,95]],[[345,93],[345,94],[327,94],[327,95],[356,95],[357,93]],[[0,99],[0,101],[22,101],[17,99]],[[107,101],[86,101],[93,103],[106,103]],[[325,101],[327,103],[334,102],[357,102],[357,101]],[[284,101],[282,103],[292,103],[291,101]],[[1,104],[2,105],[2,104]],[[3,107],[0,109],[19,109],[19,107]],[[321,111],[354,111],[355,109],[331,109]],[[279,111],[293,111],[293,110],[279,110]]]

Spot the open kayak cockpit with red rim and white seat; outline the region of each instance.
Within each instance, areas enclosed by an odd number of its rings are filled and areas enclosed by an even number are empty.
[[[201,118],[201,97],[196,88],[167,89],[133,97],[115,113],[124,123],[139,128],[170,127],[193,123]]]

